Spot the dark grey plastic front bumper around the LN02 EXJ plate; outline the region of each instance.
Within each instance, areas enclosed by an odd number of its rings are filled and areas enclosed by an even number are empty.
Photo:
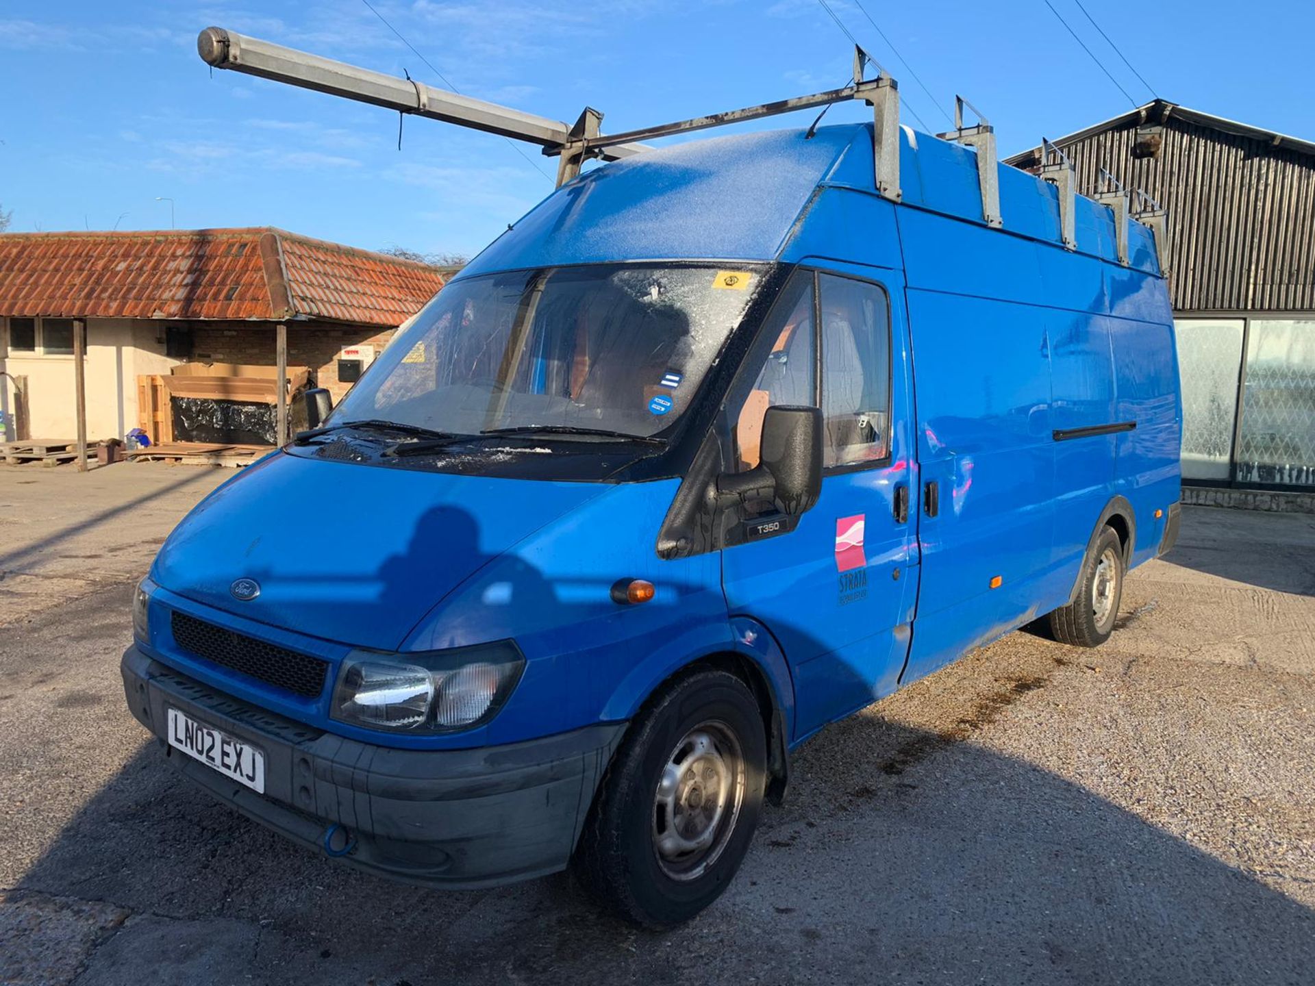
[[[188,780],[293,841],[422,886],[497,886],[564,869],[626,728],[604,723],[476,749],[396,749],[272,715],[135,647],[124,653],[122,673],[133,715]],[[264,794],[170,747],[170,706],[263,751]]]

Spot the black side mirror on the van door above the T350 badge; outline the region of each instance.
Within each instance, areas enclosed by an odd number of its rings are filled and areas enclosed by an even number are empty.
[[[717,479],[723,496],[771,498],[786,517],[811,510],[822,494],[822,411],[776,405],[763,415],[759,464]]]

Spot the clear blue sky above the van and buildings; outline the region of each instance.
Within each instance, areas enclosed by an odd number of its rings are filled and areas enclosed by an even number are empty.
[[[948,129],[855,0],[827,0],[901,82],[903,122]],[[965,95],[1002,154],[1115,116],[1128,99],[1044,0],[859,0],[947,109]],[[1051,0],[1137,103],[1151,99],[1076,5]],[[817,0],[372,0],[471,96],[621,130],[842,85],[849,42]],[[1315,7],[1082,0],[1160,96],[1315,138]],[[197,58],[220,25],[442,85],[360,0],[0,5],[0,205],[12,231],[272,225],[355,246],[473,254],[547,195],[525,146]],[[828,121],[857,120],[836,106]],[[809,114],[748,126],[805,126]]]

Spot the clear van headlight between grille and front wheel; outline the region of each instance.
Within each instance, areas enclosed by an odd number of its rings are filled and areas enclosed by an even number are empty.
[[[338,672],[331,715],[371,730],[471,730],[497,715],[523,670],[512,640],[427,653],[354,651]]]

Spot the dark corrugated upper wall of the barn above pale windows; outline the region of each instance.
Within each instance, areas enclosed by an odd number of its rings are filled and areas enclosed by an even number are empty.
[[[1103,167],[1169,210],[1176,310],[1315,310],[1315,158],[1172,114],[1157,156],[1135,139],[1130,121],[1064,151],[1082,195]]]

